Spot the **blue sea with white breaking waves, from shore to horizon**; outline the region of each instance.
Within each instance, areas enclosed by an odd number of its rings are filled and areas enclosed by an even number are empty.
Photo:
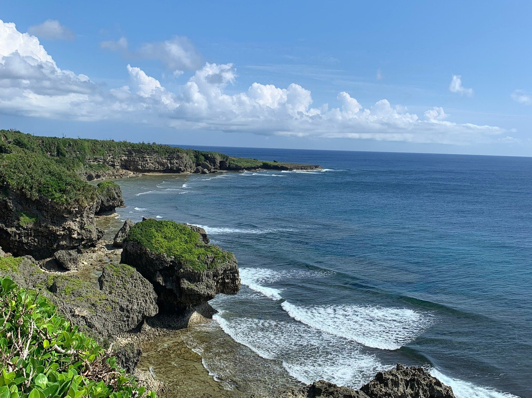
[[[532,397],[531,158],[203,149],[326,169],[120,181],[121,218],[236,254],[243,289],[213,305],[237,342],[303,382],[400,361],[459,398]]]

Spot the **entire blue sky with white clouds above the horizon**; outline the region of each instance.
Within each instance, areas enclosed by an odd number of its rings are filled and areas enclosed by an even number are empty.
[[[532,2],[0,3],[0,128],[532,155]]]

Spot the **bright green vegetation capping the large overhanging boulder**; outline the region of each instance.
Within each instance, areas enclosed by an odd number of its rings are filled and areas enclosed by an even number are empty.
[[[231,255],[218,246],[205,244],[200,234],[174,221],[137,222],[131,227],[126,242],[136,242],[153,253],[173,257],[182,266],[197,271],[215,268]]]

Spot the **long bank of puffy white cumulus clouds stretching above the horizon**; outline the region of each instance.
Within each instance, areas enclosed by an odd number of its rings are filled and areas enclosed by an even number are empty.
[[[194,65],[180,62],[180,68]],[[173,91],[138,67],[128,64],[126,71],[127,86],[105,89],[84,74],[60,69],[36,37],[0,21],[0,113],[114,119],[180,130],[418,143],[467,144],[499,137],[508,142],[510,137],[502,128],[448,121],[441,107],[419,118],[387,99],[363,106],[347,92],[337,95],[337,106],[315,105],[310,90],[297,84],[254,82],[235,93],[231,86],[238,76],[230,63],[207,62]]]

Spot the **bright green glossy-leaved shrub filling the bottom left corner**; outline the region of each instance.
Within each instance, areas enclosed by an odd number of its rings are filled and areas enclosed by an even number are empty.
[[[0,278],[0,305],[1,398],[155,398],[44,297]]]

